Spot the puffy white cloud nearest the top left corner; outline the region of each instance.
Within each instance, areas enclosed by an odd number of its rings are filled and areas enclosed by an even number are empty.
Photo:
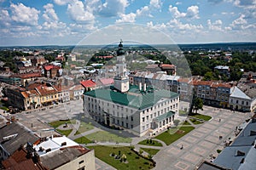
[[[23,3],[18,3],[15,5],[11,3],[11,18],[17,23],[26,24],[28,26],[37,26],[38,25],[38,14],[39,10],[36,8],[26,7]]]

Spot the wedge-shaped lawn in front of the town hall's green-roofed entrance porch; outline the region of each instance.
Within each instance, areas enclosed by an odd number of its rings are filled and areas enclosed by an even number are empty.
[[[192,131],[195,127],[180,127],[176,133],[170,133],[170,130],[167,130],[164,133],[160,133],[160,135],[156,136],[155,139],[160,139],[163,142],[165,142],[167,145],[172,144],[172,142],[175,142],[177,139],[180,139],[190,131]]]

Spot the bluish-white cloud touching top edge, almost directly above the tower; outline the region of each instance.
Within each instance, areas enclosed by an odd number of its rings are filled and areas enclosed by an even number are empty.
[[[125,8],[128,7],[127,0],[106,0],[99,8],[99,14],[103,16],[117,16],[125,13]]]

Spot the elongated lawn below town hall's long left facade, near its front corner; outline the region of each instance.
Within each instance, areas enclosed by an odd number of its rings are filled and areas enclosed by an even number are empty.
[[[86,135],[86,138],[97,142],[131,143],[131,138],[122,138],[116,134],[108,133],[106,131],[90,133]]]

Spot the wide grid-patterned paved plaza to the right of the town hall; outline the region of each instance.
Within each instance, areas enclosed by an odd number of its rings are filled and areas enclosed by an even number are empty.
[[[245,122],[250,113],[233,112],[224,109],[203,107],[201,114],[212,116],[209,122],[198,125],[195,130],[166,146],[154,156],[154,169],[189,170],[202,160],[217,156],[217,150],[224,148],[224,141],[234,136],[236,127]],[[222,136],[220,139],[219,136]],[[181,150],[181,146],[183,149]]]

